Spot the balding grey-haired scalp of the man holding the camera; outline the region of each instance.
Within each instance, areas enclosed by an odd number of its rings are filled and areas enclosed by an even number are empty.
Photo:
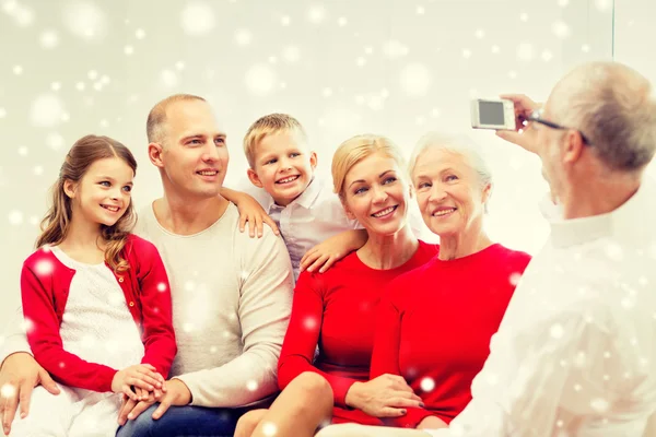
[[[656,151],[656,96],[647,79],[618,62],[576,68],[554,88],[554,121],[581,129],[610,168],[643,169]]]

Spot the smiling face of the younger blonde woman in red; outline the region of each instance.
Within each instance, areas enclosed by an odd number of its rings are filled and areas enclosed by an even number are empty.
[[[410,186],[396,160],[380,152],[354,164],[344,177],[342,203],[370,235],[393,235],[403,228]]]

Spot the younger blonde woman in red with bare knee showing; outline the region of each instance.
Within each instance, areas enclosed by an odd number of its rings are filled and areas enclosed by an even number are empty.
[[[303,272],[296,283],[290,326],[278,365],[281,397],[269,411],[244,417],[235,435],[311,436],[325,409],[323,397],[303,390],[303,379],[321,376],[330,386],[332,423],[383,425],[407,414],[421,399],[400,376],[370,380],[375,314],[383,290],[398,275],[435,257],[437,247],[417,239],[408,224],[412,188],[399,149],[388,139],[359,135],[332,160],[335,192],[368,239],[325,273]],[[318,345],[319,354],[315,358]],[[313,382],[319,390],[318,381]],[[300,393],[304,400],[290,402]],[[302,423],[300,423],[300,421]],[[315,421],[308,429],[308,423]]]

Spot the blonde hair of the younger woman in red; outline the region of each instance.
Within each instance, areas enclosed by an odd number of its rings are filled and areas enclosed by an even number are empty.
[[[355,164],[374,153],[380,153],[396,161],[401,172],[400,176],[409,180],[406,174],[406,160],[400,149],[390,139],[374,134],[355,135],[341,143],[332,155],[332,184],[335,192],[342,201],[347,174]]]

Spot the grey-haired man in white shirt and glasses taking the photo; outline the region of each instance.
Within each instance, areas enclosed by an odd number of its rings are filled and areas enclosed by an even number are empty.
[[[644,177],[656,149],[652,86],[599,62],[562,79],[543,110],[504,97],[519,132],[499,135],[540,156],[559,208],[471,402],[448,429],[337,425],[321,437],[656,436],[656,187]]]

